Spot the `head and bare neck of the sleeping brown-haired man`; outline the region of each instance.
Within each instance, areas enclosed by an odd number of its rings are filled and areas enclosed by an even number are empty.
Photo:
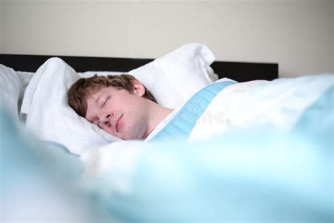
[[[171,113],[130,75],[80,78],[68,90],[77,114],[124,140],[144,140]]]

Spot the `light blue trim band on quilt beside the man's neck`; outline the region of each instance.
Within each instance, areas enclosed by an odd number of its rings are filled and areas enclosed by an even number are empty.
[[[171,138],[187,138],[190,135],[192,128],[196,124],[200,116],[209,106],[211,101],[224,88],[233,85],[235,81],[224,81],[211,84],[197,92],[187,101],[180,109],[178,114],[157,133],[150,141],[166,140]]]

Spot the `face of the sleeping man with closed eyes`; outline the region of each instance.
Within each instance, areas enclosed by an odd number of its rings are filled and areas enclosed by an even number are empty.
[[[141,93],[101,88],[87,99],[85,119],[124,140],[147,137],[147,106]]]

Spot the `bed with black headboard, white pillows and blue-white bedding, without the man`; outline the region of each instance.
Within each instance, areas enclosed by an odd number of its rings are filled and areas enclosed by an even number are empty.
[[[333,221],[333,74],[280,79],[278,64],[214,61],[202,44],[155,60],[1,54],[0,64],[5,222]],[[125,141],[68,108],[78,78],[123,72],[159,103],[181,112],[195,101],[209,116],[187,140]]]

